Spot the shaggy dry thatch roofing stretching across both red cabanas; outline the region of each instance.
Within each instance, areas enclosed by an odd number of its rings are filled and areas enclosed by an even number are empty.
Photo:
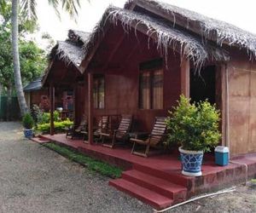
[[[133,3],[148,11],[158,11],[159,17],[131,10]],[[230,60],[225,45],[247,49],[250,56],[256,56],[256,36],[253,33],[224,21],[213,20],[188,9],[154,0],[129,0],[125,9],[109,7],[92,33],[70,30],[67,41],[59,42],[51,55],[57,54],[68,63],[72,61],[80,66],[82,60],[90,61],[92,49],[101,42],[108,27],[119,24],[125,32],[136,33],[143,29],[143,33],[148,35],[148,41],[154,39],[157,43],[161,55],[167,57],[168,50],[173,49],[191,60],[197,69],[206,61]]]

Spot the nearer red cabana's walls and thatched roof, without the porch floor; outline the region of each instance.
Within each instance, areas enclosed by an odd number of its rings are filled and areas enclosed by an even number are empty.
[[[84,49],[85,78],[101,85],[91,88],[94,100],[85,94],[84,113],[130,113],[134,128],[148,131],[179,95],[208,99],[221,110],[230,154],[253,153],[255,43],[253,33],[166,3],[110,7]]]

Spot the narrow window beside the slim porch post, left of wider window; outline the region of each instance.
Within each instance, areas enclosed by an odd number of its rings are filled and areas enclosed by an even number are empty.
[[[93,80],[93,102],[96,109],[103,109],[105,106],[105,79],[102,75]]]

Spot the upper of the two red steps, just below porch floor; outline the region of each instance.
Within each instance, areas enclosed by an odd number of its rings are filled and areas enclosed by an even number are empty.
[[[150,176],[138,170],[127,170],[122,173],[122,177],[141,187],[146,187],[156,193],[173,199],[175,203],[182,202],[187,197],[187,188],[166,181],[156,176]]]

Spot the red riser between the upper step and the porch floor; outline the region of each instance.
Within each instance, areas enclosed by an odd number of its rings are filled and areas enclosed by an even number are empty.
[[[189,185],[191,185],[189,179],[183,178],[182,176],[176,176],[175,174],[169,174],[161,170],[154,170],[153,168],[148,168],[140,164],[133,164],[133,169],[142,171],[143,173],[147,173],[151,176],[162,178],[183,187],[189,187]]]

